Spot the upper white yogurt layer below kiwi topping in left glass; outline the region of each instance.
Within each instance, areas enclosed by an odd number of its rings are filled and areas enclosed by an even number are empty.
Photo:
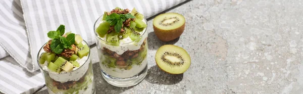
[[[82,42],[83,44],[85,44],[85,42]],[[59,81],[59,82],[67,82],[67,81],[78,81],[81,77],[83,77],[83,75],[85,74],[85,72],[87,71],[88,67],[89,67],[89,63],[90,63],[90,59],[86,62],[86,60],[88,59],[88,56],[84,56],[81,59],[78,58],[76,61],[79,63],[80,67],[76,67],[73,69],[73,71],[71,72],[66,72],[66,71],[61,71],[60,73],[51,71],[47,68],[48,62],[45,61],[45,63],[42,66],[42,69],[44,71],[47,71],[49,74],[49,77],[51,77],[52,79]]]

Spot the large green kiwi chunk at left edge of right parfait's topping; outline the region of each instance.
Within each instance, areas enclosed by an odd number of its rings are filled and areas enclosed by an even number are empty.
[[[100,37],[104,37],[104,35],[107,33],[107,31],[110,29],[111,25],[108,22],[100,23],[99,26],[96,29],[96,32]]]

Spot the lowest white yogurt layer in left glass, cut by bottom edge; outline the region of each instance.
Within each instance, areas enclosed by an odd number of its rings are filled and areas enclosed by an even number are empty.
[[[57,92],[57,93],[54,93],[51,89],[49,89],[49,88],[47,88],[47,91],[48,91],[48,93],[49,94],[63,94],[64,92],[63,91],[61,91],[61,92]],[[93,93],[93,91],[94,91],[94,83],[93,83],[93,81],[89,84],[89,85],[87,85],[87,89],[82,89],[82,90],[79,90],[79,92],[77,92],[77,91],[75,91],[75,92],[73,92],[73,94],[76,94],[76,93],[83,93],[83,94],[86,94],[86,93]]]

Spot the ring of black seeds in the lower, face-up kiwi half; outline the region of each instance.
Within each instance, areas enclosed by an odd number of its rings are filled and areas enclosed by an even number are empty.
[[[177,57],[179,58],[181,61],[180,62],[171,62],[170,60],[164,58],[166,55],[169,55],[169,56],[174,56],[174,57]],[[184,59],[181,57],[180,54],[176,53],[176,52],[173,52],[173,53],[170,53],[170,52],[164,52],[161,56],[161,60],[163,62],[165,62],[166,64],[169,64],[170,66],[181,66],[184,64]]]

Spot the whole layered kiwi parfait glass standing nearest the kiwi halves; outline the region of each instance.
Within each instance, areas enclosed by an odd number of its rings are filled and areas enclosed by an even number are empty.
[[[147,23],[134,8],[105,12],[94,24],[104,79],[118,87],[133,86],[147,73]]]

